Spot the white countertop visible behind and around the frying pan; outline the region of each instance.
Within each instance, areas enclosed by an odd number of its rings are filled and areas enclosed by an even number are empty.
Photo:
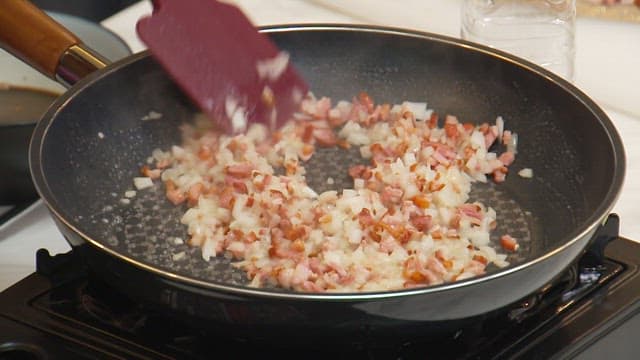
[[[370,23],[458,36],[460,0],[236,0],[256,25]],[[399,4],[402,5],[399,5]],[[137,19],[150,12],[142,1],[103,21],[134,52]],[[576,85],[599,103],[620,132],[627,174],[614,208],[621,234],[640,241],[640,24],[579,18],[576,25]],[[66,252],[41,202],[0,228],[0,291],[35,270],[35,252]]]

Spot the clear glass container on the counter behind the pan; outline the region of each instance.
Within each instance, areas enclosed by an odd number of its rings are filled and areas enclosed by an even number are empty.
[[[575,0],[463,0],[461,36],[573,81]]]

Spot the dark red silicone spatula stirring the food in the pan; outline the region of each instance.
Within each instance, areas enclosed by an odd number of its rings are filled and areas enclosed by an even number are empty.
[[[138,35],[221,130],[240,133],[251,123],[277,129],[299,108],[306,82],[240,9],[216,0],[152,3]]]

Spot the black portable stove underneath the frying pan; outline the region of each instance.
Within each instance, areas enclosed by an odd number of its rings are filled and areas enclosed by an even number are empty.
[[[393,344],[319,338],[304,348],[295,339],[258,344],[203,333],[118,294],[73,253],[41,250],[38,271],[0,293],[0,359],[632,359],[640,349],[633,339],[640,330],[640,244],[615,236],[604,257],[598,246],[552,284],[455,331]]]

